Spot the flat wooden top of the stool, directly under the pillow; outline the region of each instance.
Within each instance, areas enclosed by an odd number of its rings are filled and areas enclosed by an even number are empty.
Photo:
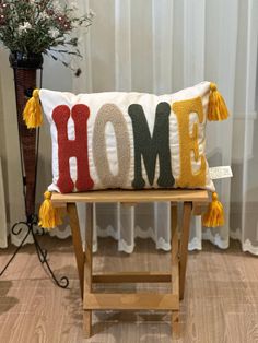
[[[83,193],[52,193],[52,203],[71,202],[208,202],[209,194],[207,190],[185,190],[185,189],[146,189],[146,190],[95,190]]]

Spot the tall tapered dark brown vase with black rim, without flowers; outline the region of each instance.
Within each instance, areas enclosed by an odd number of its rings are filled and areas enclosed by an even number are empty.
[[[42,70],[42,54],[11,52],[10,64],[14,72],[17,128],[21,151],[24,203],[27,221],[35,214],[38,130],[27,129],[23,109],[37,84],[37,70]]]

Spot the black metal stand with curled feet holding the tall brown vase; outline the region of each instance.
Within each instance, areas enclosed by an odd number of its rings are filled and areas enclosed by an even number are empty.
[[[17,70],[19,68],[16,68]],[[24,69],[24,68],[22,68]],[[43,70],[40,68],[40,75],[39,75],[39,87],[42,87],[42,80],[43,80]],[[14,81],[15,81],[15,87],[17,88],[23,87],[22,84],[19,83],[19,80],[16,78],[16,73],[14,72]],[[24,95],[26,97],[31,97],[32,96],[32,88],[26,88],[23,87],[23,92]],[[17,92],[16,92],[17,94]],[[17,98],[16,98],[17,100]],[[19,106],[17,106],[19,107]],[[20,114],[22,115],[22,114]],[[20,128],[19,128],[20,130]],[[36,129],[36,166],[35,166],[35,175],[37,175],[37,162],[38,162],[38,147],[39,147],[39,129]],[[20,155],[21,155],[21,170],[22,170],[22,181],[23,181],[23,198],[24,198],[24,204],[26,208],[26,173],[25,173],[25,168],[24,168],[24,155],[23,155],[23,150],[22,150],[22,143],[21,143],[21,137],[20,137]],[[35,187],[34,187],[34,196],[36,193],[36,182],[35,182]],[[22,241],[20,243],[20,245],[16,247],[15,251],[13,252],[12,257],[10,258],[10,260],[8,261],[8,263],[5,264],[5,267],[1,270],[0,272],[0,276],[5,272],[5,270],[8,269],[8,267],[10,265],[10,263],[12,262],[12,260],[15,258],[15,256],[17,255],[17,252],[20,251],[20,249],[22,248],[23,244],[26,241],[27,237],[31,235],[33,238],[33,243],[37,252],[37,257],[39,262],[44,265],[46,265],[46,269],[48,271],[48,273],[50,274],[52,281],[61,288],[67,288],[69,286],[69,280],[67,276],[62,276],[59,281],[57,280],[57,277],[55,276],[48,261],[47,261],[47,250],[43,249],[42,246],[38,243],[37,239],[37,235],[43,236],[45,234],[45,230],[43,228],[37,227],[37,233],[35,233],[34,227],[37,226],[38,223],[38,217],[35,214],[32,215],[27,215],[26,214],[26,222],[17,222],[12,226],[11,233],[15,236],[19,236],[23,229],[25,229],[25,235],[22,239]]]

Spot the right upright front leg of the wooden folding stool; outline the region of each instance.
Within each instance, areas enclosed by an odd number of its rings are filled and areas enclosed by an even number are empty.
[[[178,265],[178,227],[177,203],[171,203],[171,232],[172,232],[172,293],[179,297],[179,265]],[[172,311],[172,334],[177,339],[180,334],[179,308]]]

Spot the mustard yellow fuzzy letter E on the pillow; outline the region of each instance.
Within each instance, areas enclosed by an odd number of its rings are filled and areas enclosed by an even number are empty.
[[[200,123],[203,122],[201,98],[176,102],[172,105],[172,109],[177,117],[179,133],[180,175],[176,180],[177,187],[203,187],[206,186],[206,158],[199,152],[198,123],[194,123],[192,133],[189,126],[191,113],[198,115]],[[200,169],[197,173],[192,173],[191,151],[196,162],[200,161]]]

